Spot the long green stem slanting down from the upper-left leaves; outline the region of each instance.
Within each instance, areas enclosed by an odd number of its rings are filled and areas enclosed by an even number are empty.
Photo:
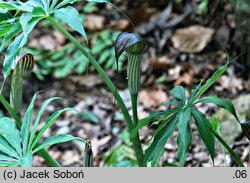
[[[97,70],[97,72],[102,77],[103,81],[108,86],[109,90],[112,92],[113,96],[116,98],[116,101],[118,105],[121,108],[121,111],[123,113],[123,116],[125,118],[125,121],[127,123],[129,132],[131,132],[134,128],[133,122],[129,116],[128,109],[125,106],[121,96],[117,92],[116,87],[114,86],[113,82],[110,80],[110,78],[107,76],[105,71],[102,69],[102,67],[98,64],[98,62],[89,54],[89,52],[79,43],[77,39],[75,39],[68,31],[66,31],[57,21],[54,20],[54,18],[48,16],[47,19],[50,21],[52,25],[54,25],[61,33],[63,33],[82,53],[85,55],[90,63],[94,66],[94,68]],[[143,153],[141,148],[141,142],[139,139],[139,135],[137,134],[137,137],[133,140],[133,148],[135,150],[136,158],[138,161],[139,166],[143,166]],[[140,147],[140,148],[139,148]],[[139,149],[138,149],[139,148]]]

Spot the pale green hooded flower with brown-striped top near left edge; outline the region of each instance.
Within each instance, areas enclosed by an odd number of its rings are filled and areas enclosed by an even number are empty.
[[[31,54],[26,54],[18,60],[11,75],[10,104],[19,113],[23,101],[23,78],[34,68],[34,58]]]

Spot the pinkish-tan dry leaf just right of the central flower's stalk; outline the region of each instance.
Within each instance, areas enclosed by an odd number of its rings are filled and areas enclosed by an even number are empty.
[[[162,103],[167,101],[166,92],[160,87],[151,90],[142,90],[139,95],[139,102],[145,108],[159,107]]]

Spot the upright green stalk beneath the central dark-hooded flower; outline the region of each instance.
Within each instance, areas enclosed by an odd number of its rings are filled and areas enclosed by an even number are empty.
[[[133,124],[134,128],[138,125],[138,113],[137,113],[137,94],[131,94],[131,102],[132,102],[132,111],[133,111]],[[139,133],[136,134],[133,145],[135,147],[135,155],[138,160],[138,166],[144,167],[144,155],[141,146],[141,141],[139,137]]]

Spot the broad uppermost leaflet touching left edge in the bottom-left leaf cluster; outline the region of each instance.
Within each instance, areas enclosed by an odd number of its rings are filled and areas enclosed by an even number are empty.
[[[22,156],[21,139],[15,122],[7,117],[1,118],[0,135],[2,135],[8,143],[11,144],[19,156]]]

